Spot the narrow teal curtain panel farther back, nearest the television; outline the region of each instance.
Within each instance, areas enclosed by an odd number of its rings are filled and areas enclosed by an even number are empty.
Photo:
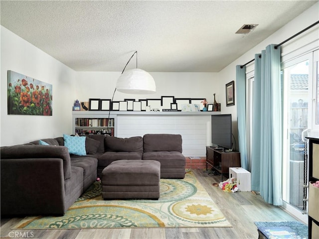
[[[241,166],[248,169],[246,137],[246,66],[236,66],[238,143]]]

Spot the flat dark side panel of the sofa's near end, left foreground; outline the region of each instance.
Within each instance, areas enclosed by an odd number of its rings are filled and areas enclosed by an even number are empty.
[[[2,216],[66,212],[61,158],[1,158],[0,163]]]

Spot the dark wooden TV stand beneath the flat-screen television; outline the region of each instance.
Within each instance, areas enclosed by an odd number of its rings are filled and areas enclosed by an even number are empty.
[[[214,147],[206,146],[206,170],[208,165],[213,170],[222,175],[229,173],[230,167],[241,167],[240,152],[224,152],[224,150],[215,150]]]

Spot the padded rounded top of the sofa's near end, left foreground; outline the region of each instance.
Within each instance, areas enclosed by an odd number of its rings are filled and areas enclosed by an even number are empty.
[[[54,145],[13,145],[0,148],[1,159],[61,158],[64,180],[71,177],[71,160],[65,146]]]

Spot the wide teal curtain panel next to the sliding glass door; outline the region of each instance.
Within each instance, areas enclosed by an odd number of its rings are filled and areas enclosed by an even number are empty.
[[[255,56],[252,127],[252,190],[282,205],[282,92],[280,47],[269,45]]]

